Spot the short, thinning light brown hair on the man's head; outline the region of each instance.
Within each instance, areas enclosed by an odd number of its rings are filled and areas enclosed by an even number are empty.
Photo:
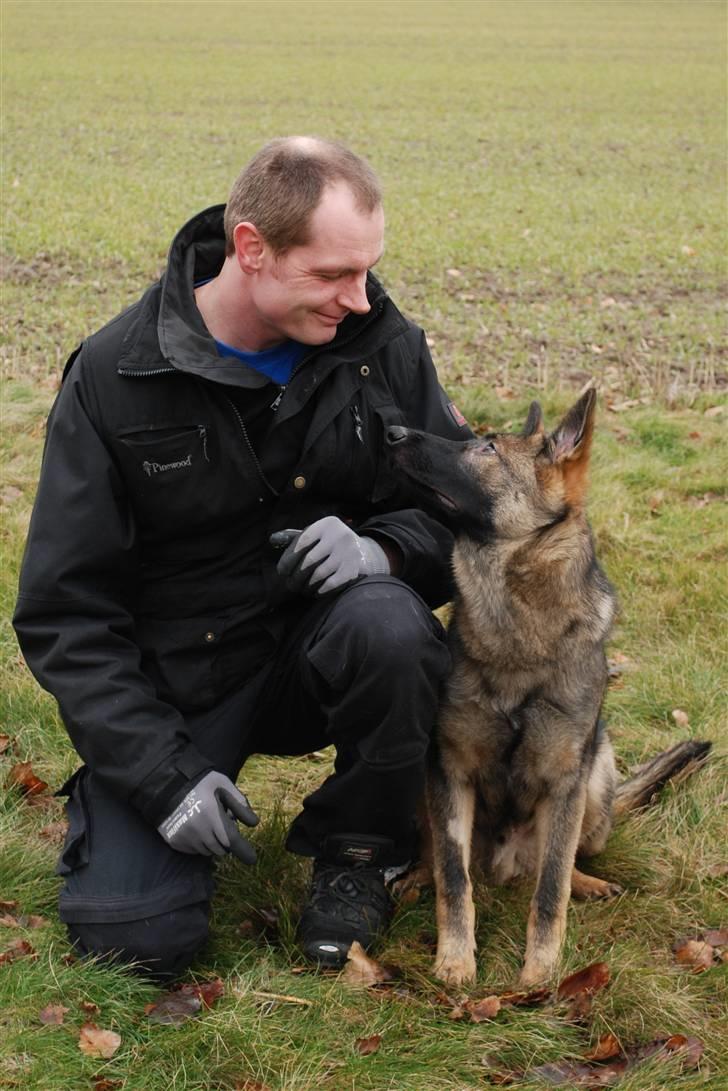
[[[279,136],[240,172],[225,207],[225,253],[235,253],[237,224],[254,224],[273,252],[305,245],[326,185],[345,182],[357,207],[372,213],[382,190],[369,164],[344,144],[317,136]]]

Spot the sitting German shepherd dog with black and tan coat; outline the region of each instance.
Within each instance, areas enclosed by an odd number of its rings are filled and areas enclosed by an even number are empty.
[[[472,849],[496,883],[536,876],[521,983],[545,981],[570,894],[621,894],[576,856],[601,851],[617,814],[711,746],[680,743],[618,783],[599,715],[616,596],[584,509],[595,405],[588,389],[550,434],[536,401],[520,434],[458,443],[387,430],[396,475],[455,533],[453,670],[427,779],[434,972],[454,985],[476,973]]]

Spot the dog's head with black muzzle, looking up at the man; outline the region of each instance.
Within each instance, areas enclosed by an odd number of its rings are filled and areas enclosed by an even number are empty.
[[[595,406],[590,388],[551,433],[534,401],[517,433],[458,443],[395,425],[386,443],[413,500],[455,533],[481,541],[525,538],[582,509]]]

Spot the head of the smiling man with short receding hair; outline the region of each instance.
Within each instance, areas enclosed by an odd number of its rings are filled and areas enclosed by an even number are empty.
[[[347,314],[369,311],[384,213],[371,168],[347,148],[309,136],[267,144],[235,183],[225,228],[248,347],[324,345]]]

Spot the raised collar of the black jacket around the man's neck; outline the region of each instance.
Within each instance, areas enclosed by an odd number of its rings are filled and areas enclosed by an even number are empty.
[[[140,353],[141,341],[130,331],[120,363],[124,370],[147,371],[160,362],[179,371],[224,383],[229,386],[263,386],[265,375],[247,368],[232,357],[220,357],[194,301],[194,285],[217,276],[225,261],[225,205],[213,205],[193,216],[177,232],[159,283],[156,337],[163,358],[152,362]],[[313,356],[331,357],[334,361],[348,358],[347,346],[356,359],[374,352],[407,328],[407,322],[371,273],[367,276],[367,296],[371,310],[365,315],[349,314],[341,323],[334,339],[326,345],[311,346]],[[144,309],[143,309],[144,310]],[[150,319],[148,312],[146,317]],[[355,347],[356,346],[356,347]]]

